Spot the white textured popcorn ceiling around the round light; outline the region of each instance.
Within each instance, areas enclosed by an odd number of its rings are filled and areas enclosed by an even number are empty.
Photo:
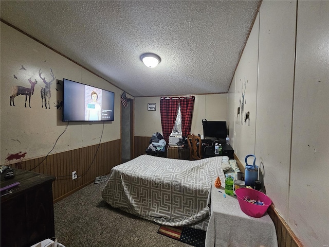
[[[2,20],[134,97],[227,93],[260,3],[0,1]]]

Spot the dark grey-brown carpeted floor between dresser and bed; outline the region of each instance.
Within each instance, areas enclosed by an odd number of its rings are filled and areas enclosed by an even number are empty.
[[[159,224],[112,208],[90,184],[54,204],[55,234],[66,247],[191,246],[158,234]]]

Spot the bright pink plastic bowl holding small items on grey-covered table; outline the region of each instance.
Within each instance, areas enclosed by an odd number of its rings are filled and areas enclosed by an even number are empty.
[[[254,218],[261,218],[266,213],[267,208],[272,204],[268,196],[255,189],[240,188],[235,190],[235,193],[243,213]],[[249,197],[250,200],[259,200],[264,202],[264,205],[247,202],[244,197]]]

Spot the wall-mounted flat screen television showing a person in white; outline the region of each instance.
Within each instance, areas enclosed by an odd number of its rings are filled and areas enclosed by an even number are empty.
[[[113,121],[114,92],[63,78],[63,121]]]

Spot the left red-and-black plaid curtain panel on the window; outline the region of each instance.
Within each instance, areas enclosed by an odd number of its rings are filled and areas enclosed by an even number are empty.
[[[169,136],[175,125],[178,103],[179,103],[178,98],[161,97],[160,99],[162,135],[163,138],[166,140],[167,145],[169,143]]]

